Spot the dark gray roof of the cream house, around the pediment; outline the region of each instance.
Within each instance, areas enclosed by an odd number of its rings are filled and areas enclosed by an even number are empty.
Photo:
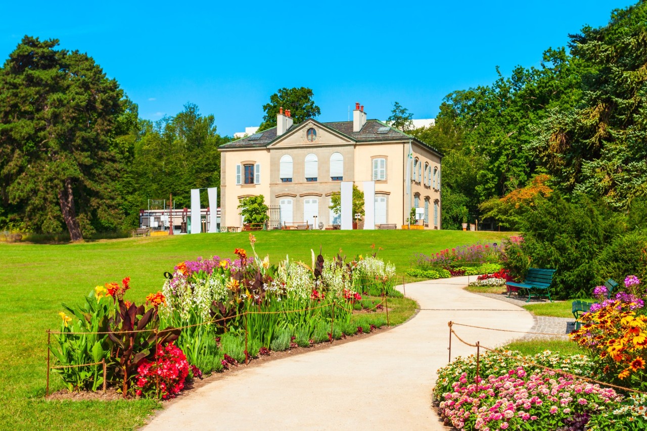
[[[306,120],[309,121],[309,120]],[[314,122],[317,122],[316,120],[313,120]],[[319,123],[319,122],[317,122]],[[389,131],[387,133],[377,133],[377,129],[380,127],[388,127],[388,124],[384,124],[380,120],[367,120],[366,124],[364,124],[364,127],[358,132],[353,131],[353,122],[352,121],[338,121],[338,122],[329,122],[329,123],[319,123],[322,124],[322,126],[328,127],[330,129],[333,129],[334,131],[337,131],[338,133],[342,133],[342,135],[345,135],[352,140],[355,140],[356,142],[374,142],[374,141],[387,141],[387,140],[413,140],[415,142],[419,142],[420,144],[431,148],[433,151],[441,155],[439,151],[437,151],[435,148],[432,148],[431,146],[428,146],[424,142],[421,142],[420,140],[417,140],[414,137],[411,137],[410,135],[407,135],[406,133],[403,133],[402,131],[399,131],[398,129],[394,129],[393,127],[389,127]],[[298,124],[293,125],[288,129],[286,132],[289,133],[289,131],[294,130],[294,127],[297,127]],[[230,142],[228,144],[225,144],[223,146],[220,146],[219,148],[223,149],[234,149],[234,148],[261,148],[261,147],[267,147],[269,144],[271,144],[274,140],[276,140],[276,127],[272,127],[271,129],[264,130],[262,132],[258,132],[255,135],[261,135],[258,140],[250,140],[250,136],[234,140],[233,142]]]

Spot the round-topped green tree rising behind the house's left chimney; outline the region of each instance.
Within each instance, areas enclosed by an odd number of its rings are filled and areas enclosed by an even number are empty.
[[[289,109],[294,118],[294,124],[299,124],[307,118],[314,118],[321,114],[321,109],[314,104],[314,93],[306,87],[281,88],[270,96],[270,103],[263,105],[263,122],[259,131],[276,127],[276,116],[279,108]]]

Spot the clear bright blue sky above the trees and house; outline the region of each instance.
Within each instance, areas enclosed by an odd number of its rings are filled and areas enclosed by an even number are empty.
[[[491,83],[496,65],[504,74],[539,65],[567,34],[606,25],[613,8],[633,3],[11,2],[2,6],[0,56],[25,34],[58,38],[116,78],[142,118],[193,102],[232,135],[258,126],[281,87],[312,88],[322,121],[345,120],[355,102],[369,118],[386,119],[394,101],[432,118],[450,91]]]

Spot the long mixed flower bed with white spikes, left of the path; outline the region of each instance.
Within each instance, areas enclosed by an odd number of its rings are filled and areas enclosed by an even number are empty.
[[[252,250],[255,242],[250,235]],[[270,265],[235,254],[179,263],[146,304],[124,299],[125,278],[96,287],[81,307],[63,305],[71,316],[60,313],[54,370],[70,391],[96,391],[105,364],[106,383],[124,396],[168,399],[203,373],[387,323],[381,296],[395,292],[395,268],[375,256]]]

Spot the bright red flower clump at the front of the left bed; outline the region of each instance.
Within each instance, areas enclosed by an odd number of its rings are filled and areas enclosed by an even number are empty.
[[[159,390],[161,399],[175,398],[188,374],[189,364],[181,349],[173,343],[157,346],[155,359],[138,362],[135,393],[155,397]]]

